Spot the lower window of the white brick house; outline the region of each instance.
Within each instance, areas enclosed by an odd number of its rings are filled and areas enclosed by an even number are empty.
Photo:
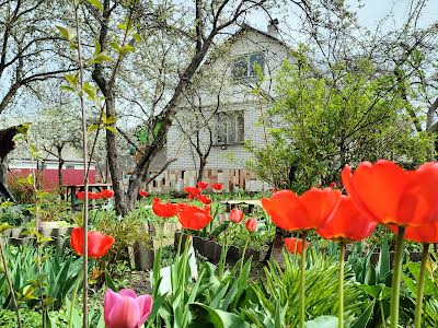
[[[239,144],[244,141],[243,110],[221,112],[216,115],[215,144]]]

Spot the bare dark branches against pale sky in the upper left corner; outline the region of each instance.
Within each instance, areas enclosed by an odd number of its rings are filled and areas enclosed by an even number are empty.
[[[37,93],[37,83],[74,70],[57,52],[60,38],[51,23],[59,16],[55,1],[0,2],[0,114],[20,90]],[[5,156],[1,166],[5,166],[4,161]],[[5,183],[2,178],[0,175],[0,181]]]

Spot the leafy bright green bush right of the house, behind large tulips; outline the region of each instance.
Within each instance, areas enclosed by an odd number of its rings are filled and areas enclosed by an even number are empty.
[[[328,185],[345,164],[365,160],[417,165],[433,157],[433,139],[414,131],[395,78],[370,61],[336,63],[324,73],[302,51],[277,80],[277,101],[261,118],[269,144],[247,144],[255,155],[249,167],[275,187]]]

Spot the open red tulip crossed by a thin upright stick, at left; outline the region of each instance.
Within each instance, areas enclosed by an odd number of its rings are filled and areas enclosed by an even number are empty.
[[[114,238],[108,235],[104,235],[100,232],[92,231],[87,235],[88,239],[88,255],[92,258],[100,258],[104,256],[113,246]],[[83,255],[83,229],[74,227],[70,235],[70,245],[74,253]]]

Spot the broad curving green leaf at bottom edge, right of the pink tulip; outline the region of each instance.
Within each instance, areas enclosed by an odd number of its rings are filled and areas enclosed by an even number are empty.
[[[208,324],[215,328],[244,328],[249,325],[238,315],[220,309],[214,309],[201,303],[189,304],[197,318],[193,327],[206,327]],[[337,327],[337,326],[336,326]]]

